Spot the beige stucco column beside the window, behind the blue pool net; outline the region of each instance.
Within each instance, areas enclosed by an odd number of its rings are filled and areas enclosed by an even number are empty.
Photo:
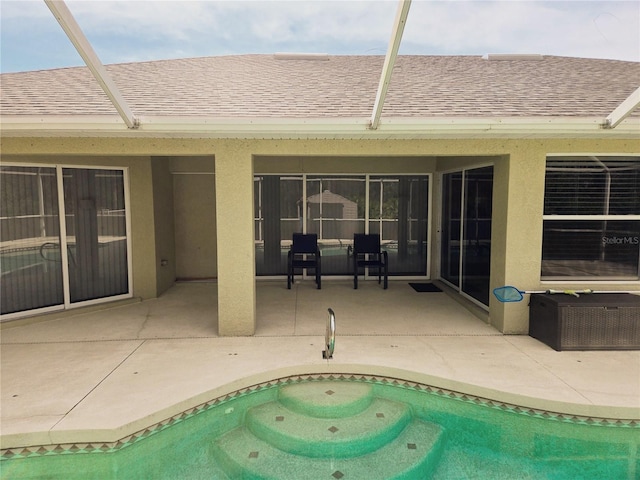
[[[511,152],[494,166],[491,284],[540,289],[546,156],[535,148]],[[529,302],[489,299],[489,321],[503,333],[529,331]]]

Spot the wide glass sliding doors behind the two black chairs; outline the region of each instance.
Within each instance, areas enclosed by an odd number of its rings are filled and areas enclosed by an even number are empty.
[[[428,176],[264,175],[254,192],[258,275],[286,274],[294,232],[318,235],[323,276],[350,274],[355,233],[381,235],[390,275],[427,273]]]

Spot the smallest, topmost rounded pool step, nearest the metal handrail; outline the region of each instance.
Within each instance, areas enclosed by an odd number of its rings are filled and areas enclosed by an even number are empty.
[[[297,413],[319,418],[343,418],[366,410],[373,401],[368,383],[306,382],[280,389],[278,400]]]

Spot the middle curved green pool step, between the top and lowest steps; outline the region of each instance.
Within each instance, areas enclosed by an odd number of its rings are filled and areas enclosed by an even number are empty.
[[[309,417],[271,402],[247,412],[246,426],[274,447],[307,457],[346,458],[364,455],[392,441],[411,421],[409,408],[375,398],[349,417]]]

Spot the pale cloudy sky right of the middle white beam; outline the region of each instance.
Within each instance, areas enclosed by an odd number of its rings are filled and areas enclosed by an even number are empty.
[[[457,8],[452,8],[457,7]],[[401,53],[541,53],[640,60],[640,4],[416,2]]]

